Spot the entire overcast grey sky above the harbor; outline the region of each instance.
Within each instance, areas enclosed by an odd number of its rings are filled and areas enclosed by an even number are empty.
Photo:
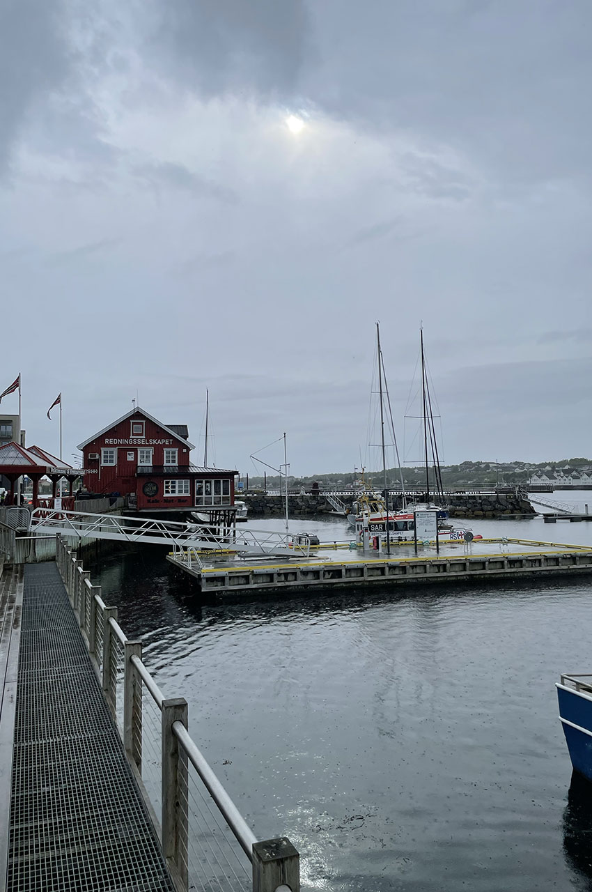
[[[285,430],[292,473],[349,469],[379,319],[399,439],[423,321],[447,462],[592,454],[590,0],[0,20],[0,392],[21,371],[29,444],[57,450],[60,391],[64,458],[137,392],[201,461],[209,387],[218,466]]]

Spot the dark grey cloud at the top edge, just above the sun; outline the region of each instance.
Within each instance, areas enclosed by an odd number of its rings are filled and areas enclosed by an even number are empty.
[[[304,0],[156,0],[152,53],[211,96],[291,95],[308,55]]]

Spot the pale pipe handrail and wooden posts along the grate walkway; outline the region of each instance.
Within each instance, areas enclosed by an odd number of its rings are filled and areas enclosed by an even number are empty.
[[[187,761],[193,765],[219,815],[251,862],[252,892],[300,892],[300,856],[292,843],[284,837],[257,841],[187,731],[185,698],[165,698],[144,665],[142,643],[126,638],[117,622],[117,607],[104,603],[101,586],[90,582],[90,573],[83,569],[82,562],[60,535],[56,536],[56,563],[116,723],[118,703],[123,701],[119,732],[150,814],[152,804],[144,789],[142,775],[143,687],[160,712],[160,824],[155,814],[152,814],[152,820],[177,892],[187,892],[192,876],[188,858],[192,848],[192,825]],[[121,682],[122,697],[118,697],[118,683]]]

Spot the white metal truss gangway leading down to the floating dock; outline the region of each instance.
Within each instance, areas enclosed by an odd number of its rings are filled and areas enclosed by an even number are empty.
[[[154,517],[125,517],[81,511],[36,508],[31,512],[29,532],[36,537],[60,535],[75,539],[109,539],[130,543],[166,545],[176,554],[188,550],[230,551],[238,557],[308,557],[308,540],[292,533],[241,530],[228,527],[213,532],[208,524],[158,520]],[[293,540],[293,541],[292,541]]]

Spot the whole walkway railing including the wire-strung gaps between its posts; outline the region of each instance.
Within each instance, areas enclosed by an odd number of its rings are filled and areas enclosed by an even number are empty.
[[[59,535],[56,556],[177,892],[297,892],[300,855],[290,840],[257,841],[189,734],[185,698],[165,698],[142,642],[127,639],[117,607],[105,605]]]

